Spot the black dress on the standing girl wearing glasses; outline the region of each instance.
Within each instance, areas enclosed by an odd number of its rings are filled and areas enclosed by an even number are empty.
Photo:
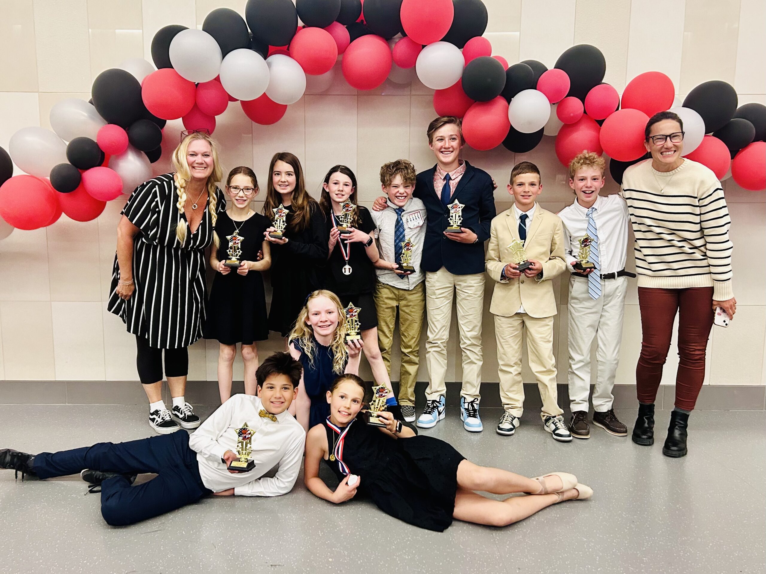
[[[235,225],[236,223],[236,225]],[[264,232],[271,222],[261,214],[253,214],[247,220],[234,222],[227,213],[218,217],[215,226],[221,246],[218,247],[218,260],[229,258],[227,250],[239,228],[241,261],[256,261],[258,250],[264,243]],[[260,271],[250,271],[242,276],[237,269],[231,269],[226,275],[216,272],[208,299],[205,338],[217,339],[219,343],[233,345],[237,343],[253,344],[269,338],[266,315],[266,293],[264,278]]]

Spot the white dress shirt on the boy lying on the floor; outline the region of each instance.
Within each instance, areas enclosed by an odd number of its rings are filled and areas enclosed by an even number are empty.
[[[189,435],[189,447],[197,452],[202,483],[213,492],[234,488],[237,496],[279,496],[290,492],[298,478],[303,458],[306,432],[286,411],[277,422],[259,416],[264,406],[257,396],[237,394],[218,407],[195,432]],[[255,468],[236,475],[226,470],[224,452],[237,452],[237,430],[254,430],[250,458]],[[279,465],[273,478],[261,478]]]

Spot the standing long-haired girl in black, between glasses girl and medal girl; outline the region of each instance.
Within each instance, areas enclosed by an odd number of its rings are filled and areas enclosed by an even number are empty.
[[[287,208],[286,230],[274,238],[274,210]],[[327,232],[319,204],[306,192],[303,169],[295,155],[274,154],[264,215],[272,222],[264,236],[271,243],[271,309],[269,329],[287,337],[310,292],[322,287],[319,267],[327,261]]]

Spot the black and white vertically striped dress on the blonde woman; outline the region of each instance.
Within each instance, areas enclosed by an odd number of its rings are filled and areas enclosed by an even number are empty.
[[[226,202],[221,191],[217,210]],[[128,332],[146,338],[150,347],[188,347],[202,336],[205,321],[205,248],[213,242],[208,205],[195,230],[188,231],[185,245],[175,237],[178,189],[173,174],[145,181],[123,208],[139,233],[133,242],[133,281],[136,290],[127,300],[116,294],[119,264],[114,257],[108,309],[119,315]],[[201,206],[200,206],[201,207]]]

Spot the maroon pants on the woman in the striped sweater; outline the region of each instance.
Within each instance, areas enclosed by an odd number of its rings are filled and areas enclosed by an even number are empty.
[[[673,321],[679,313],[676,406],[694,409],[705,378],[705,347],[713,325],[712,297],[712,287],[638,288],[643,332],[636,366],[639,403],[654,403],[670,349]]]

